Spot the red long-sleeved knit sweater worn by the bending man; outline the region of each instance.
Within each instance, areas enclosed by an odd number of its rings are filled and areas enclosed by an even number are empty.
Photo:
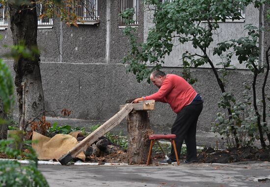
[[[168,103],[175,113],[189,105],[197,93],[182,77],[167,74],[158,92],[146,96],[145,100]]]

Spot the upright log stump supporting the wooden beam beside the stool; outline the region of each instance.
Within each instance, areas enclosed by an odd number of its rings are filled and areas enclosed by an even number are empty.
[[[145,110],[132,111],[128,116],[128,164],[145,164],[150,147],[151,130]]]

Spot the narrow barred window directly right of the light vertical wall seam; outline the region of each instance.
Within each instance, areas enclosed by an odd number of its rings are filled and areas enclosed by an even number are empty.
[[[119,13],[126,10],[126,8],[134,8],[135,14],[133,15],[133,20],[135,21],[134,26],[138,25],[138,12],[139,12],[139,6],[138,6],[138,0],[119,0]],[[119,27],[125,27],[124,20],[119,17]]]

